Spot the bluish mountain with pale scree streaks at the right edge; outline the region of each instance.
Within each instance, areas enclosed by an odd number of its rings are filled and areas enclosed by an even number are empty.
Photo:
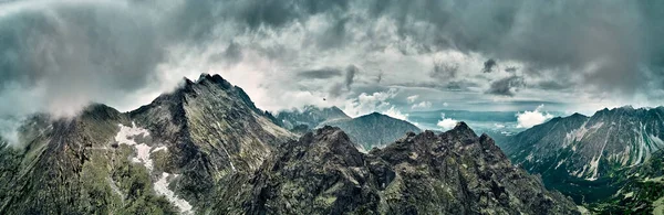
[[[664,107],[574,114],[520,132],[501,147],[515,163],[544,183],[593,203],[614,195],[637,169],[664,149]]]

